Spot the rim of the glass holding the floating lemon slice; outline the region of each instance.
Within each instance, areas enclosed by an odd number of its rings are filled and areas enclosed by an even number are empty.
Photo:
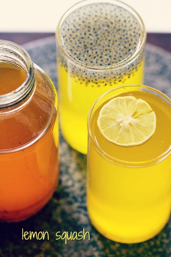
[[[95,150],[97,150],[97,152],[102,156],[102,158],[105,158],[106,160],[108,160],[109,162],[113,162],[114,164],[116,165],[119,165],[119,166],[124,166],[124,167],[132,167],[132,168],[136,168],[136,167],[145,167],[145,166],[151,166],[151,165],[154,165],[162,160],[164,160],[167,156],[169,156],[169,154],[171,154],[171,145],[170,147],[165,151],[163,152],[160,156],[156,157],[156,158],[153,158],[151,160],[148,160],[148,161],[141,161],[141,162],[135,162],[135,161],[124,161],[124,160],[120,160],[120,159],[117,159],[117,158],[114,158],[112,156],[110,156],[109,154],[107,154],[106,152],[103,151],[103,149],[97,144],[97,142],[94,140],[93,136],[92,136],[92,133],[91,133],[91,128],[90,128],[90,123],[91,123],[91,118],[93,116],[93,113],[95,111],[95,108],[96,108],[96,105],[105,97],[107,96],[108,94],[110,94],[111,92],[113,91],[116,91],[118,89],[121,89],[123,87],[138,87],[138,88],[142,88],[144,90],[142,91],[145,91],[145,92],[155,92],[157,94],[157,96],[159,97],[160,95],[160,99],[162,98],[166,103],[168,103],[168,105],[171,106],[171,99],[165,95],[164,93],[162,93],[161,91],[155,89],[155,88],[152,88],[152,87],[149,87],[149,86],[145,86],[145,85],[122,85],[122,86],[118,86],[118,87],[115,87],[113,89],[110,89],[108,90],[107,92],[103,93],[95,102],[94,104],[92,105],[90,111],[89,111],[89,114],[88,114],[88,118],[87,118],[87,130],[88,130],[88,137],[91,139],[91,142],[93,143],[93,146],[95,147]],[[119,92],[118,94],[120,94],[121,92]]]

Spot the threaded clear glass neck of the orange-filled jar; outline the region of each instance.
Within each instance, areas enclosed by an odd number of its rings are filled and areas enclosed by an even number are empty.
[[[18,103],[28,95],[35,82],[35,72],[27,51],[11,41],[0,40],[0,62],[13,64],[27,75],[25,81],[17,89],[0,95],[0,108],[4,108]]]

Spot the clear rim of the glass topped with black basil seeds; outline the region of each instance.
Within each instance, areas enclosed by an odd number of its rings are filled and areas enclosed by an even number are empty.
[[[85,4],[84,4],[85,3]],[[71,14],[73,11],[89,5],[89,4],[93,4],[93,3],[111,3],[113,5],[120,6],[120,7],[125,7],[124,9],[126,9],[127,11],[129,11],[139,22],[139,24],[141,25],[142,28],[142,32],[143,32],[143,38],[142,38],[142,42],[141,45],[139,46],[138,50],[135,51],[135,53],[133,53],[133,55],[131,55],[130,57],[118,63],[112,64],[112,65],[108,65],[108,66],[93,66],[93,65],[88,65],[86,63],[83,63],[77,59],[73,59],[71,57],[71,55],[68,53],[68,51],[64,51],[63,45],[60,42],[60,35],[59,35],[59,31],[60,31],[60,26],[62,25],[63,21],[65,21],[66,17],[68,17],[69,14]],[[144,48],[145,42],[146,42],[146,29],[145,29],[145,25],[144,22],[141,18],[141,16],[139,15],[139,13],[137,13],[137,11],[135,11],[135,9],[133,9],[131,6],[127,5],[126,3],[123,3],[122,1],[119,0],[83,0],[80,1],[76,4],[74,4],[72,7],[70,7],[61,17],[58,25],[57,25],[57,29],[56,29],[56,43],[58,44],[58,46],[60,47],[61,52],[63,53],[63,55],[68,58],[73,64],[77,64],[81,67],[84,67],[86,69],[93,69],[93,70],[108,70],[108,69],[116,69],[118,67],[124,67],[125,65],[127,65],[128,63],[131,63],[131,61],[135,60],[137,58],[137,56],[139,56],[139,54],[141,53],[141,51]]]

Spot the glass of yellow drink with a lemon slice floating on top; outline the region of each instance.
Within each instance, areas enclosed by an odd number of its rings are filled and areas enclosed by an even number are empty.
[[[88,115],[87,209],[105,237],[148,240],[171,209],[171,100],[147,86],[109,90]]]

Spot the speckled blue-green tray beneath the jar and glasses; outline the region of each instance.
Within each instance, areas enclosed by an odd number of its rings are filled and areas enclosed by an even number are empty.
[[[56,81],[55,37],[24,45],[34,63]],[[144,85],[163,91],[171,97],[171,55],[146,44]],[[171,220],[162,232],[139,244],[119,244],[101,236],[91,225],[86,209],[86,156],[79,154],[60,134],[61,174],[59,186],[50,202],[34,217],[16,224],[0,224],[1,257],[170,257]],[[48,232],[44,240],[22,239],[23,231]],[[89,232],[85,239],[56,240],[67,232]],[[40,235],[41,236],[41,235]]]

